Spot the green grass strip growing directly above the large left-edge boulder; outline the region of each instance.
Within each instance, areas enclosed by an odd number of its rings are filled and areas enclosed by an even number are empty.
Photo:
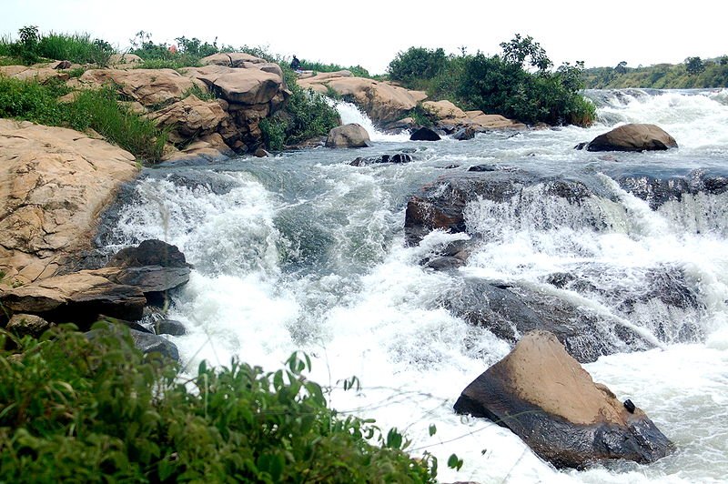
[[[154,122],[119,105],[113,89],[81,91],[75,101],[59,103],[57,97],[68,92],[63,83],[42,85],[0,76],[0,117],[78,131],[91,128],[137,158],[148,162],[161,159],[166,133]]]

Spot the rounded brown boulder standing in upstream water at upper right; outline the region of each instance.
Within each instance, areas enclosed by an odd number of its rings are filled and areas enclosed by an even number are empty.
[[[586,146],[588,151],[653,151],[676,148],[675,138],[659,126],[630,124],[615,127],[597,136]]]

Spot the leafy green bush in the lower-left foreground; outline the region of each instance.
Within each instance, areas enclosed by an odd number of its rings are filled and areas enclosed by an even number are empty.
[[[15,344],[0,351],[2,482],[434,482],[436,460],[410,458],[396,429],[328,408],[305,356],[183,380],[107,324]]]

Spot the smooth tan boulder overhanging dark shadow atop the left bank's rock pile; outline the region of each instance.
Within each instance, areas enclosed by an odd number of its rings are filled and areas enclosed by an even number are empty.
[[[205,83],[226,101],[241,105],[260,105],[270,102],[283,86],[278,74],[260,69],[236,69],[226,66],[187,67],[186,76]],[[229,108],[228,108],[229,109]]]

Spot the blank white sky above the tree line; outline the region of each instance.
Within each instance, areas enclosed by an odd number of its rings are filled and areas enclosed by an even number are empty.
[[[14,38],[24,25],[87,32],[120,48],[139,30],[167,43],[217,36],[218,45],[267,45],[275,54],[360,64],[371,74],[412,45],[497,54],[515,33],[534,37],[556,66],[649,66],[728,54],[724,0],[3,0],[0,12],[0,35]]]

